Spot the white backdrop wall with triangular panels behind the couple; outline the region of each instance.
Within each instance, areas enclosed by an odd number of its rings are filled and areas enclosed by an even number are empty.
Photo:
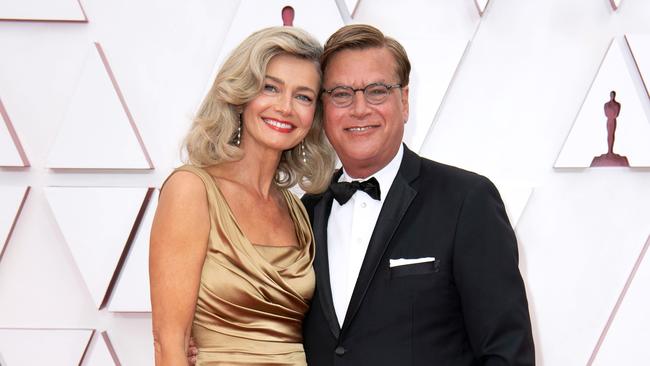
[[[405,140],[499,186],[538,364],[650,363],[650,2],[0,0],[0,364],[153,364],[151,188],[223,54],[285,5],[321,41],[360,22],[405,44]],[[633,167],[556,164],[606,152],[614,88]]]

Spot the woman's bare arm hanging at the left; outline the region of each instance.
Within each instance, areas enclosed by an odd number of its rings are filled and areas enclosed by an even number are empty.
[[[186,349],[209,230],[203,181],[190,172],[174,173],[160,193],[149,248],[156,366],[188,364]]]

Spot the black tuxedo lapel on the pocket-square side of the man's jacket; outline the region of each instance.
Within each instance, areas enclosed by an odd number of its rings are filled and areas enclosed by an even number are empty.
[[[366,295],[370,281],[377,271],[381,258],[388,247],[388,243],[417,194],[417,191],[410,186],[410,182],[417,178],[419,174],[419,159],[420,157],[418,155],[404,146],[402,164],[386,195],[386,201],[377,218],[377,223],[370,238],[368,250],[363,259],[359,277],[357,278],[354,291],[352,292],[352,298],[350,299],[350,304],[345,314],[343,329],[346,329],[350,325],[350,322],[359,310],[361,301]]]

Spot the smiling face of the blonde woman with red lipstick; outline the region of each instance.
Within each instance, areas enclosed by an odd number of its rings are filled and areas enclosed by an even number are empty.
[[[240,147],[284,151],[296,146],[311,128],[319,88],[316,64],[291,55],[274,56],[262,91],[244,106]]]

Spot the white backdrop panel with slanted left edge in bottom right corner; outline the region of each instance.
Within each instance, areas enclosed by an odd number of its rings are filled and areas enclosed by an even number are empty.
[[[612,314],[600,349],[591,365],[640,365],[650,360],[650,258],[646,241],[637,265],[632,269],[629,286],[623,289],[620,306]]]

